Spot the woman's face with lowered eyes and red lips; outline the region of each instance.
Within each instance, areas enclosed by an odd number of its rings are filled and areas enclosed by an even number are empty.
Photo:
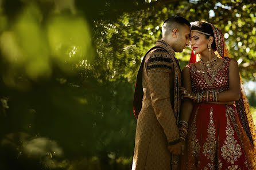
[[[197,31],[192,31],[191,33],[191,48],[194,52],[194,54],[200,54],[205,51],[208,51],[208,45],[209,41],[205,37],[204,34],[201,34]]]

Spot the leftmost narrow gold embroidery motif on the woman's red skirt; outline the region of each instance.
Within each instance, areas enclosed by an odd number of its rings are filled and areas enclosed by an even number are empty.
[[[193,122],[192,122],[192,125],[191,125],[191,135],[189,136],[190,140],[191,140],[191,144],[192,144],[192,154],[193,156],[195,157],[198,157],[199,156],[199,151],[200,151],[200,145],[199,145],[199,142],[198,142],[198,139],[196,139],[196,116],[197,116],[197,110],[198,108],[196,109],[196,112],[195,112],[195,117],[193,118]]]

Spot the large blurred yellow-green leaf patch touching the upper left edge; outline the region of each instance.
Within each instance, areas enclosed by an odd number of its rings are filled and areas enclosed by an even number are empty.
[[[8,62],[8,74],[4,77],[9,86],[17,85],[14,79],[19,74],[32,80],[51,75],[49,50],[40,21],[41,11],[35,5],[28,5],[11,25],[11,30],[4,31],[0,37],[0,48]]]

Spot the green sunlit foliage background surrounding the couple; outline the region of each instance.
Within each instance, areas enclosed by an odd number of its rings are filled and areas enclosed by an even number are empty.
[[[1,0],[0,169],[130,169],[135,78],[164,20],[214,23],[243,80],[255,81],[255,7],[239,0]],[[190,53],[177,53],[181,68]]]

